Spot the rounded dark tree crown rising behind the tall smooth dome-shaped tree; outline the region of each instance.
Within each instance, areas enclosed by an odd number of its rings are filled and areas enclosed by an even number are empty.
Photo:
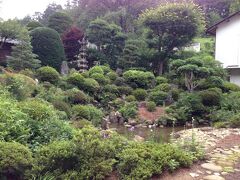
[[[63,34],[71,27],[71,17],[63,12],[55,12],[48,19],[48,27],[56,30],[59,34]]]

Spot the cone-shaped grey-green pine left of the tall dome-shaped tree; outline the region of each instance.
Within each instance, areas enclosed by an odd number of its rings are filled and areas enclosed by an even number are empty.
[[[7,65],[16,71],[23,69],[37,69],[41,65],[41,61],[37,59],[37,55],[32,52],[31,38],[27,31],[12,47],[11,56],[7,58]]]

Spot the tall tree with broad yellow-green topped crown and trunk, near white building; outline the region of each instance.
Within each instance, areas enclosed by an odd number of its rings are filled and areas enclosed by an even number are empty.
[[[167,3],[146,10],[140,21],[156,38],[159,59],[154,61],[155,73],[163,74],[163,65],[174,49],[187,45],[203,29],[201,9],[194,3]]]

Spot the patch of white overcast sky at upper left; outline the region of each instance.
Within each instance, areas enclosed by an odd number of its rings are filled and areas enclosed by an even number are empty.
[[[62,6],[67,0],[0,0],[0,18],[7,20],[26,15],[33,15],[34,12],[43,12],[47,5],[55,2]]]

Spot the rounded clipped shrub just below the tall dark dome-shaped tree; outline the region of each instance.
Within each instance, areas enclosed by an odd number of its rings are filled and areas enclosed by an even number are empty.
[[[59,73],[54,68],[49,66],[39,68],[36,76],[40,81],[47,81],[52,84],[57,84],[60,79]]]

